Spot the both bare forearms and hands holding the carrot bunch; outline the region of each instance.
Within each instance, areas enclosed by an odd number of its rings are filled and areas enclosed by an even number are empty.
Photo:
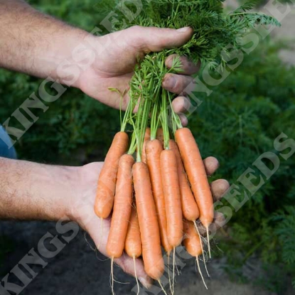
[[[61,84],[77,87],[95,100],[117,109],[121,99],[117,93],[109,92],[108,87],[117,87],[121,92],[128,90],[137,58],[143,58],[151,51],[180,46],[192,35],[191,28],[176,31],[136,26],[96,37],[45,16],[20,0],[0,0],[0,15],[1,68],[41,78],[50,76]],[[82,70],[83,63],[73,58],[73,50],[77,45],[85,48],[85,60],[82,62],[87,62],[87,58],[94,53],[93,62],[85,70]],[[167,58],[168,68],[173,58],[173,55]],[[77,70],[75,79],[64,68],[59,68],[65,60]],[[189,109],[190,102],[181,94],[193,80],[191,75],[200,68],[200,65],[193,65],[186,58],[181,57],[181,60],[181,75],[169,74],[163,80],[166,90],[180,95],[173,101],[177,113]],[[125,95],[123,109],[128,100],[128,95]],[[185,117],[181,116],[181,119],[183,125],[187,124]],[[106,255],[110,221],[103,221],[102,234],[99,230],[100,219],[93,210],[97,174],[102,165],[46,166],[0,158],[0,219],[74,220],[89,232],[100,252]],[[205,159],[205,167],[210,175],[218,168],[218,161],[214,158]],[[218,200],[229,184],[220,180],[213,182],[211,187]],[[125,272],[134,275],[132,258],[123,255],[114,262]],[[151,279],[144,272],[141,259],[136,259],[136,269],[141,283],[149,286]]]

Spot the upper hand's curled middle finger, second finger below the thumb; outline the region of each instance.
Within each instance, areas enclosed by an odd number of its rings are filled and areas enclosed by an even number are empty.
[[[173,93],[181,94],[193,82],[193,77],[186,75],[166,74],[162,85]]]

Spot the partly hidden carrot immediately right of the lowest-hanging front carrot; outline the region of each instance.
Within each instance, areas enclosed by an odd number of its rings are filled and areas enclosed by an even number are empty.
[[[167,219],[165,200],[163,195],[162,178],[161,178],[161,161],[160,156],[163,151],[161,141],[155,139],[146,143],[146,161],[151,177],[151,188],[156,204],[156,213],[158,216],[159,229],[161,234],[161,243],[164,250],[170,254],[172,247],[168,242],[167,236]]]

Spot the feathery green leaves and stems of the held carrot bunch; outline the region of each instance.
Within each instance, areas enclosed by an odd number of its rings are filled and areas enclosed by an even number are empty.
[[[123,119],[123,126],[134,127],[134,146],[138,159],[144,143],[144,133],[151,116],[151,134],[155,134],[159,124],[163,125],[165,148],[168,149],[169,129],[172,134],[181,128],[181,122],[171,109],[174,95],[161,87],[167,73],[180,73],[181,62],[174,60],[171,69],[165,67],[168,55],[184,55],[193,63],[207,65],[211,70],[222,71],[227,66],[229,50],[241,48],[240,40],[251,28],[257,25],[280,26],[276,18],[257,12],[249,12],[257,1],[248,1],[240,8],[227,14],[220,0],[141,0],[124,2],[112,0],[107,6],[115,9],[112,18],[114,31],[130,26],[155,26],[159,28],[193,28],[193,37],[180,48],[172,48],[160,53],[150,53],[139,61],[130,82],[128,111]],[[129,3],[129,4],[127,4]],[[116,6],[117,5],[117,6]],[[229,49],[229,46],[230,49]],[[139,100],[140,99],[140,100]],[[139,111],[132,110],[139,104]],[[155,109],[156,108],[156,109]],[[136,146],[135,146],[136,142]]]

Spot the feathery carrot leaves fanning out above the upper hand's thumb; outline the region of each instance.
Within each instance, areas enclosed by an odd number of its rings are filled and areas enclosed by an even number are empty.
[[[144,0],[141,1],[141,13],[130,22],[126,22],[126,9],[119,5],[120,1],[107,1],[109,11],[114,9],[116,18],[112,21],[114,31],[129,26],[156,26],[159,28],[193,28],[191,41],[168,53],[186,55],[194,63],[199,61],[216,68],[221,64],[225,67],[226,61],[220,53],[227,44],[239,48],[238,37],[257,24],[272,24],[279,26],[279,22],[272,16],[248,13],[252,9],[252,2],[244,4],[240,10],[226,14],[223,10],[223,1],[208,0]],[[131,11],[134,7],[128,7]],[[137,8],[139,9],[139,8]],[[241,12],[242,11],[242,12]]]

